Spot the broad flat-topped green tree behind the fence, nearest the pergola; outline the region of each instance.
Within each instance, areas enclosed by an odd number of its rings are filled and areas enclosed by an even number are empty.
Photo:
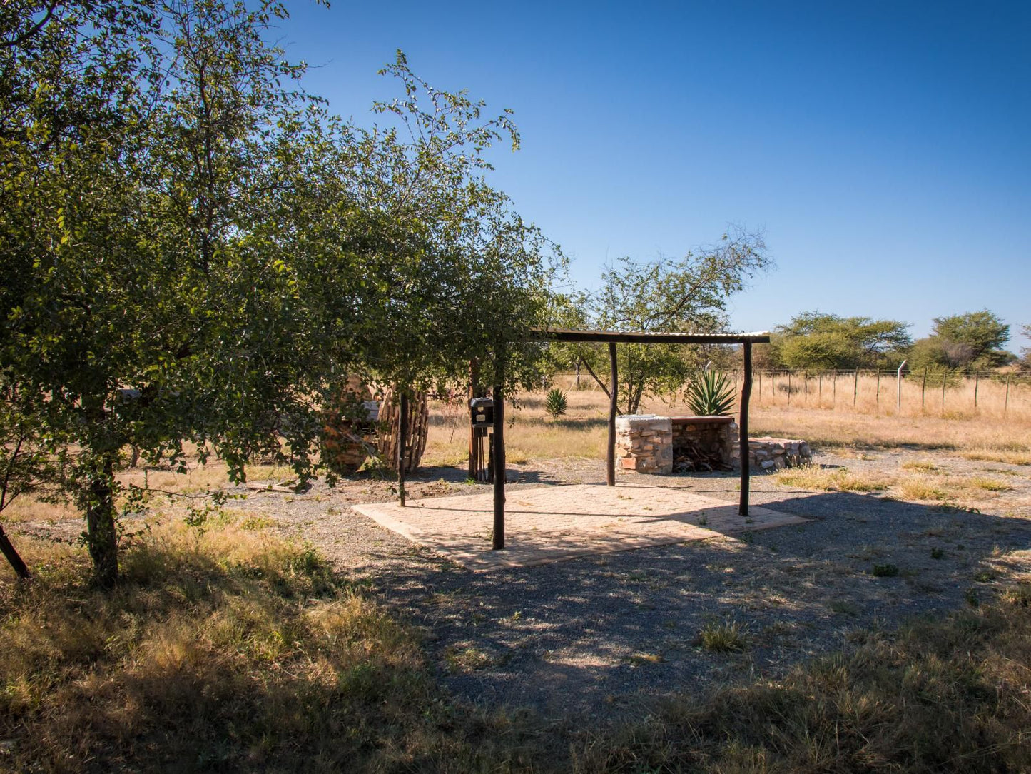
[[[803,312],[775,330],[777,365],[829,370],[897,363],[912,345],[908,327],[897,320]]]

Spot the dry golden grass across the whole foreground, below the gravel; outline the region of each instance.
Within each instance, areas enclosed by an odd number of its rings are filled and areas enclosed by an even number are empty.
[[[458,706],[414,632],[308,547],[228,513],[154,523],[125,580],[92,588],[80,549],[30,542],[35,581],[0,583],[0,734],[11,771],[1026,771],[1031,592],[854,635],[779,681],[671,696],[587,728]],[[737,622],[700,634],[740,658]],[[729,652],[728,652],[729,651]],[[634,664],[661,663],[651,653]],[[474,647],[456,671],[489,667]]]

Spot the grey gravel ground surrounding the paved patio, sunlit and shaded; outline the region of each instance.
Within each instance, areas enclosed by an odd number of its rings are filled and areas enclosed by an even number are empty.
[[[821,453],[814,462],[899,476],[908,475],[903,463],[919,461],[934,465],[928,479],[980,476],[1012,488],[982,492],[976,508],[966,501],[961,509],[900,502],[892,491],[805,491],[755,476],[754,504],[811,521],[490,573],[464,570],[351,510],[392,498],[390,482],[317,484],[304,494],[248,491],[232,507],[310,541],[420,626],[441,680],[461,699],[547,716],[613,716],[669,692],[783,674],[864,632],[941,615],[1031,573],[1031,467],[918,449],[847,455]],[[601,483],[603,476],[600,461],[534,460],[509,486]],[[644,478],[737,497],[729,474]],[[409,482],[408,494],[478,486],[465,483],[464,471],[430,469]],[[14,526],[63,540],[77,536],[81,521]],[[887,565],[898,574],[873,575],[874,566]],[[699,632],[712,623],[740,626],[743,649],[702,648]]]

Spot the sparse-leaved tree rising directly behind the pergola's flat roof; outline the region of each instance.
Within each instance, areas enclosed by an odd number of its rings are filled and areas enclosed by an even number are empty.
[[[602,273],[602,288],[578,299],[578,317],[607,330],[716,332],[727,324],[727,301],[772,260],[763,235],[734,227],[713,247],[684,258],[642,262],[623,258]],[[598,347],[573,348],[597,384],[607,368]],[[620,410],[634,414],[645,395],[679,389],[701,364],[690,347],[624,344],[618,348]]]

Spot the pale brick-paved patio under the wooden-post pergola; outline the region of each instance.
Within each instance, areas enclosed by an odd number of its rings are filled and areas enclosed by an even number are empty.
[[[490,491],[409,501],[406,508],[396,503],[353,506],[470,570],[528,567],[806,521],[758,506],[742,518],[736,504],[640,483],[542,486],[508,492],[506,547],[492,551],[493,507]]]

